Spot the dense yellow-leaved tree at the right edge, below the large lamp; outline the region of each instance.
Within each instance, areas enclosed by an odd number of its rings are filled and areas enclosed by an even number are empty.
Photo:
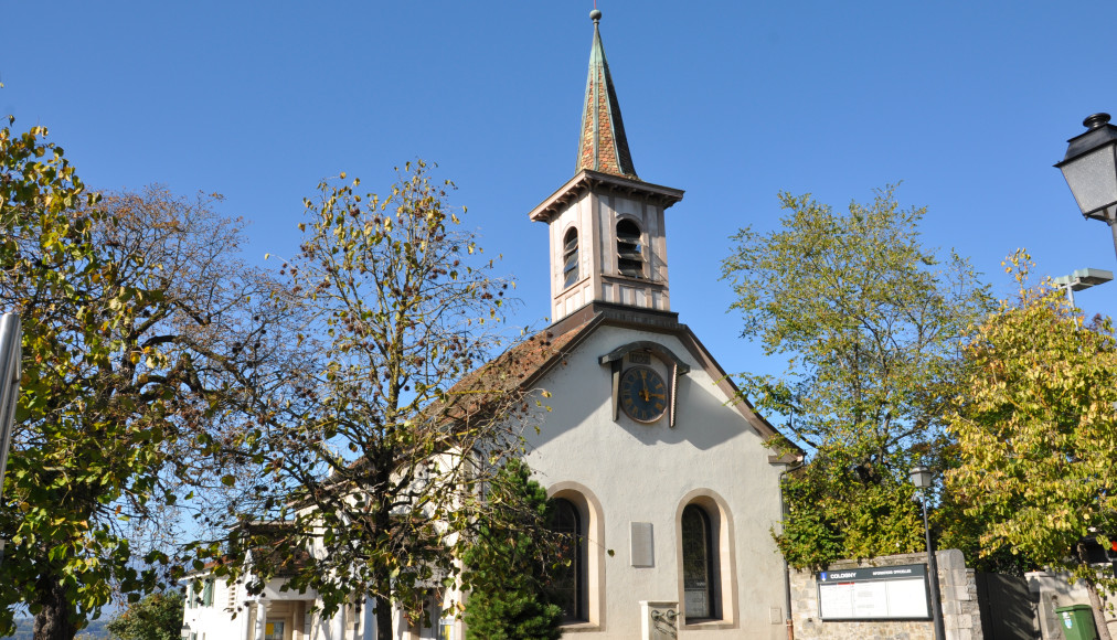
[[[1108,639],[1086,545],[1117,539],[1117,338],[1108,317],[1085,322],[1050,283],[1029,287],[1030,260],[1008,261],[1019,285],[966,346],[972,370],[951,418],[958,465],[948,489],[983,523],[986,554],[1011,553],[1086,583]]]

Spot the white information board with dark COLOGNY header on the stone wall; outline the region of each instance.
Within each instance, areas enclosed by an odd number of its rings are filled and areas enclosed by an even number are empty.
[[[823,571],[817,584],[822,620],[930,620],[923,564]]]

